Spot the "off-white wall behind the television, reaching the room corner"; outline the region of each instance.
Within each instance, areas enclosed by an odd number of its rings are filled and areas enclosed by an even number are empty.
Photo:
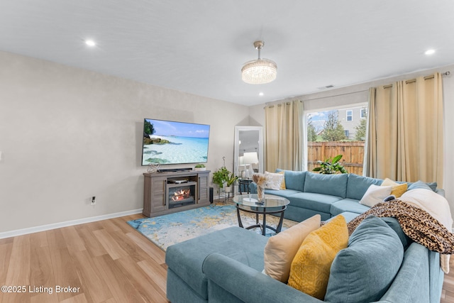
[[[0,232],[143,207],[143,119],[211,125],[233,169],[248,107],[0,52]],[[96,196],[96,205],[89,199]]]

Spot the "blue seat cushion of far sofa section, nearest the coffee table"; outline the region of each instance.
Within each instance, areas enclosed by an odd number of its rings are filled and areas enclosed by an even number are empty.
[[[290,205],[302,207],[304,209],[312,209],[314,211],[321,211],[328,213],[331,209],[331,204],[339,201],[341,198],[331,196],[329,194],[316,194],[314,192],[299,192],[298,194],[292,194],[287,199],[290,201]]]

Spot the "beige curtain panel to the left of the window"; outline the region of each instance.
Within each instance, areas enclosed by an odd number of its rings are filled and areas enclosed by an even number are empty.
[[[299,100],[265,107],[267,171],[302,170],[302,114]]]

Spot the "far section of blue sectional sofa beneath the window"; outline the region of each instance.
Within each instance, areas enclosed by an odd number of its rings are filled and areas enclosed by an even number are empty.
[[[282,170],[277,170],[281,172]],[[314,172],[284,170],[284,190],[265,189],[265,194],[275,194],[289,199],[290,204],[284,218],[304,221],[314,214],[320,214],[325,221],[343,214],[350,221],[369,209],[359,203],[370,185],[382,184],[382,179],[362,177],[355,174],[323,175]],[[408,183],[409,189],[416,183]],[[437,189],[436,182],[427,183],[434,192],[444,196],[443,189]],[[257,184],[249,185],[250,192],[257,193]]]

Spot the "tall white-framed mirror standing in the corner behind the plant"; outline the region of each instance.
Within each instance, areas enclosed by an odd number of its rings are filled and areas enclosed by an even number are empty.
[[[235,175],[243,179],[252,177],[254,172],[263,172],[262,126],[235,126],[233,165]]]

